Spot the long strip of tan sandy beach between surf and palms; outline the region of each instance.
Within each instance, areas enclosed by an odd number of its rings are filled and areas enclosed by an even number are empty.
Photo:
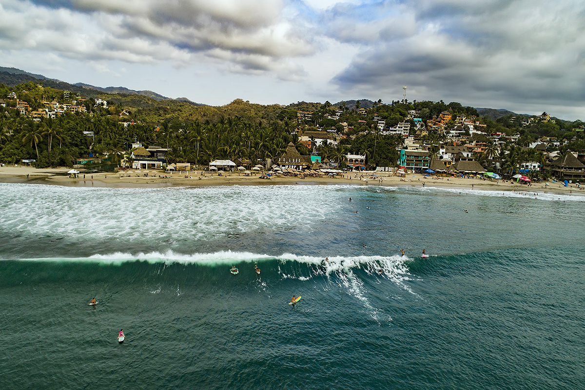
[[[393,176],[390,172],[375,172],[378,178],[372,177],[371,172],[358,173],[347,172],[336,177],[286,177],[283,175],[273,176],[270,179],[261,179],[260,174],[245,176],[239,172],[226,172],[219,176],[216,172],[175,172],[167,174],[163,171],[149,171],[149,176],[132,173],[130,176],[118,173],[85,173],[80,172],[78,178],[70,178],[67,174],[71,168],[33,168],[27,166],[5,165],[0,167],[0,182],[4,183],[29,183],[29,184],[52,184],[68,187],[197,187],[197,186],[218,186],[218,185],[383,185],[390,187],[439,187],[457,189],[481,189],[487,191],[527,191],[527,192],[549,192],[566,194],[579,194],[576,184],[569,184],[564,187],[560,182],[534,183],[530,187],[511,181],[489,181],[473,178],[443,177],[433,178],[432,175],[425,177],[421,174],[407,174],[401,178]],[[153,177],[154,175],[154,177]],[[160,178],[159,175],[167,175]],[[583,188],[583,187],[581,187]],[[585,191],[583,191],[585,194]]]

